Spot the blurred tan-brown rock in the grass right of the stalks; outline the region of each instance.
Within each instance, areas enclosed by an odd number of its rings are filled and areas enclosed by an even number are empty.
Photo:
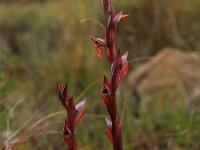
[[[128,83],[140,94],[174,89],[194,90],[200,81],[200,54],[164,48],[129,73]],[[200,86],[199,86],[200,87]]]

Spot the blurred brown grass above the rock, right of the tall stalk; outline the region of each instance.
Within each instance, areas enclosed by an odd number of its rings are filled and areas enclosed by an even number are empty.
[[[199,6],[198,0],[124,2],[119,7],[132,19],[119,27],[124,38],[119,37],[118,43],[133,50],[130,55],[136,58],[153,55],[166,46],[199,51]]]

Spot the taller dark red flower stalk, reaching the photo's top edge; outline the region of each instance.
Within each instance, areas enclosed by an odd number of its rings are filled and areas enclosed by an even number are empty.
[[[90,39],[93,41],[97,55],[103,58],[102,49],[104,49],[111,63],[111,79],[109,81],[106,76],[104,76],[101,100],[110,116],[110,119],[106,118],[106,135],[113,144],[113,150],[122,150],[121,123],[117,111],[116,92],[120,80],[124,78],[128,72],[128,52],[122,55],[120,50],[117,51],[115,39],[117,24],[129,15],[123,14],[122,11],[116,14],[111,0],[102,0],[102,2],[107,20],[105,36],[103,39],[91,36]]]

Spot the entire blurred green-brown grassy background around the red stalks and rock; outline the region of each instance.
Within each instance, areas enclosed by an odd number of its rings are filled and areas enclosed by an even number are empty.
[[[166,46],[200,50],[199,0],[113,3],[131,14],[117,32],[117,46],[129,50],[130,71],[144,63],[131,60],[154,56]],[[61,134],[65,112],[55,89],[56,82],[65,81],[76,102],[87,99],[86,116],[76,131],[78,148],[112,149],[105,136],[108,115],[99,98],[109,63],[96,56],[88,38],[103,35],[100,6],[101,0],[0,0],[0,149],[7,137],[15,141],[45,125],[44,132],[16,149],[66,149]],[[129,86],[123,80],[118,93],[124,150],[200,149],[200,111],[186,114],[181,100],[174,109],[167,96],[153,94],[152,109],[144,97],[135,119]]]

